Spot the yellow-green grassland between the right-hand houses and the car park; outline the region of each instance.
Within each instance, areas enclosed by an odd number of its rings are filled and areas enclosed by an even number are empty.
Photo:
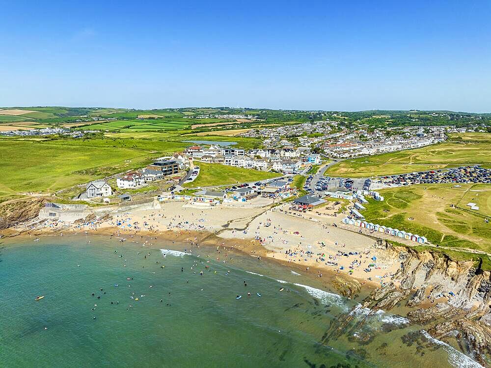
[[[449,142],[399,152],[346,160],[327,169],[329,176],[369,177],[404,172],[436,170],[463,165],[491,165],[491,134],[480,133],[474,141]],[[467,133],[461,134],[466,139]],[[488,141],[489,139],[489,141]]]

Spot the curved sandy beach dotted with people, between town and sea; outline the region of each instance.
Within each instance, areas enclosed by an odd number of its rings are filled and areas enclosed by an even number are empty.
[[[133,210],[82,224],[51,222],[43,231],[90,232],[130,240],[152,237],[222,247],[269,257],[317,277],[327,274],[380,286],[400,267],[374,239],[332,226],[338,218],[288,214],[288,205],[274,208],[189,206],[165,202],[160,209]],[[346,278],[345,278],[346,277]]]

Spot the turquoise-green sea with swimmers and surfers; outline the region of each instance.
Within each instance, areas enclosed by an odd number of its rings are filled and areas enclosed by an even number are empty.
[[[171,243],[3,240],[0,367],[480,367],[301,272]]]

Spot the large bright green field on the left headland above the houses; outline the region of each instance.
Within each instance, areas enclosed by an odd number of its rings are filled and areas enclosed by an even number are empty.
[[[182,142],[60,139],[0,140],[3,178],[0,196],[54,192],[76,184],[147,165],[182,149]]]

